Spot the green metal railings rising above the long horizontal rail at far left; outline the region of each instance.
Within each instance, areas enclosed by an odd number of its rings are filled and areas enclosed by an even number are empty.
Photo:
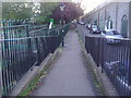
[[[47,36],[48,25],[33,25],[28,21],[25,23],[15,23],[12,21],[2,22],[0,27],[0,39]]]

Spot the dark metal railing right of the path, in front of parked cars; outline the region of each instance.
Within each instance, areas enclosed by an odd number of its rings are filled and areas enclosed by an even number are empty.
[[[131,96],[131,40],[85,37],[85,48],[120,96]]]

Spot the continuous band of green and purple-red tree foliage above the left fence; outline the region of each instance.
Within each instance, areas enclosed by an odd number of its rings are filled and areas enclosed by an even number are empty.
[[[2,17],[5,20],[33,19],[41,24],[48,23],[52,17],[57,23],[63,19],[67,23],[83,15],[79,4],[64,2],[63,12],[60,11],[59,2],[3,2]]]

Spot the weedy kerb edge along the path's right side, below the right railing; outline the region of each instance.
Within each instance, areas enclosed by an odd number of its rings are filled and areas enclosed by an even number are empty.
[[[78,34],[79,35],[79,34]],[[79,35],[80,37],[80,35]],[[85,46],[80,37],[80,44],[81,44],[81,51],[83,53],[83,57],[86,61],[86,65],[92,70],[92,73],[94,74],[96,81],[99,84],[99,88],[103,93],[103,96],[119,96],[117,90],[115,89],[114,85],[109,81],[109,77],[106,75],[106,73],[103,71],[102,68],[97,66],[94,59],[92,58],[91,53],[87,53]]]

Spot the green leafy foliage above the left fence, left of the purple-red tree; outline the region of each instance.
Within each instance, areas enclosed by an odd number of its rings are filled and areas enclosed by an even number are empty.
[[[34,2],[3,2],[2,19],[25,20],[34,19],[36,24],[48,23],[58,2],[40,2],[39,8]],[[35,8],[33,10],[33,8]],[[38,12],[37,12],[38,11]]]

